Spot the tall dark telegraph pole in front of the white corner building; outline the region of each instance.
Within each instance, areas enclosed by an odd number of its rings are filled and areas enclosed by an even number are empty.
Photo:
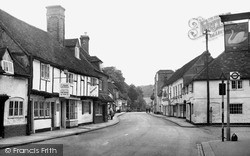
[[[206,36],[206,68],[207,68],[207,75],[206,75],[206,79],[207,79],[207,124],[210,124],[209,121],[209,110],[210,110],[210,91],[209,91],[209,73],[208,73],[208,34],[209,34],[209,30],[206,29],[204,32],[205,36]]]

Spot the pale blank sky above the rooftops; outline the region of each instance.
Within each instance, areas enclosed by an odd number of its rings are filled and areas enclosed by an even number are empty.
[[[0,0],[0,9],[47,30],[46,7],[65,8],[65,38],[90,37],[90,55],[121,70],[125,82],[154,84],[159,70],[177,70],[206,50],[205,37],[188,37],[192,18],[249,12],[249,0]],[[208,42],[212,57],[223,35]]]

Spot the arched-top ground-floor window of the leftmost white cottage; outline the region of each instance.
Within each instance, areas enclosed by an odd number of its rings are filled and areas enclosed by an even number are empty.
[[[9,116],[23,116],[23,101],[10,101]]]

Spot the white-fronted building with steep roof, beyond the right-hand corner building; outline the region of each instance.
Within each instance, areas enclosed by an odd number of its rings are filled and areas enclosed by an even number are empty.
[[[208,53],[204,52],[189,61],[165,82],[162,89],[164,115],[186,118],[188,94],[193,92],[193,84],[190,81],[204,69],[206,55]],[[209,57],[209,61],[211,60]]]

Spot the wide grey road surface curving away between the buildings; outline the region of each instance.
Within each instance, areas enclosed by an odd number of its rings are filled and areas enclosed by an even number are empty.
[[[119,118],[115,126],[38,144],[63,144],[65,156],[194,156],[198,155],[197,144],[216,139],[202,129],[182,128],[145,112],[126,113]]]

